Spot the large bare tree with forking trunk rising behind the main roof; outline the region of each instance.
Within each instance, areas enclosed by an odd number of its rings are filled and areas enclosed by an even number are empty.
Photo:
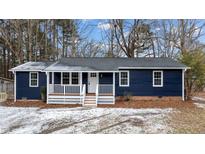
[[[144,20],[113,20],[115,38],[127,57],[138,57],[152,46],[150,25]]]

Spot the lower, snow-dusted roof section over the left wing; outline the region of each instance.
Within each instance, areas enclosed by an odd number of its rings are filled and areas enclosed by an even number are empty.
[[[10,69],[10,71],[42,71],[52,63],[53,62],[27,62]]]

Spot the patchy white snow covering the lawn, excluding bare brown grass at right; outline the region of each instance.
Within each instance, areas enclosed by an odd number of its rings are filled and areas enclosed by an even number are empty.
[[[172,109],[0,106],[0,133],[167,133]]]

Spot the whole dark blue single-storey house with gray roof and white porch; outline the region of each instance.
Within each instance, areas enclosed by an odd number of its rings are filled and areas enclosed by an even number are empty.
[[[62,58],[27,62],[12,68],[15,101],[41,99],[48,104],[114,104],[133,99],[184,100],[187,67],[170,58]]]

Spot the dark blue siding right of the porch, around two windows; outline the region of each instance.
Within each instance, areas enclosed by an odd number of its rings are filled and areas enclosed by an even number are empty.
[[[152,86],[153,70],[129,70],[130,86],[119,87],[119,73],[116,73],[115,93],[123,96],[127,93],[133,96],[181,96],[182,70],[163,70],[163,87]]]

